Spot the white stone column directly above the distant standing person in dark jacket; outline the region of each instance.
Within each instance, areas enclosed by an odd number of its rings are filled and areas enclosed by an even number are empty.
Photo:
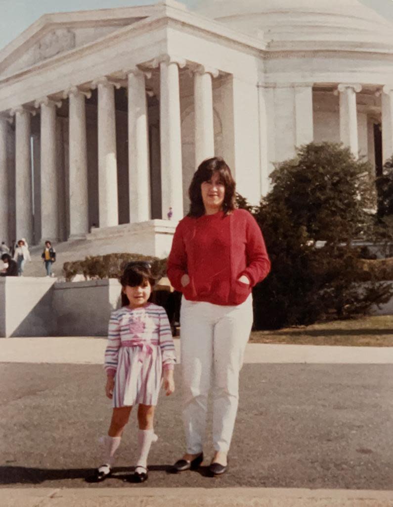
[[[56,153],[56,106],[48,97],[41,105],[41,240],[59,241],[58,173]]]

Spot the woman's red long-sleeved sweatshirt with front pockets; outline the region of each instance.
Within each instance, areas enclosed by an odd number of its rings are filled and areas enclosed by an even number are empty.
[[[265,242],[255,219],[244,209],[200,218],[185,216],[173,237],[168,278],[190,301],[239,305],[270,271]],[[180,280],[187,273],[190,282]],[[238,281],[246,275],[250,283]]]

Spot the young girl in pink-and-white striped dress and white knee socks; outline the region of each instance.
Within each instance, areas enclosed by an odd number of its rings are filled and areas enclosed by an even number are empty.
[[[105,351],[106,387],[113,401],[113,413],[105,446],[103,465],[91,480],[110,476],[114,456],[133,406],[138,405],[138,447],[134,482],[147,479],[147,455],[152,442],[154,408],[162,383],[167,396],[175,389],[173,369],[175,347],[163,307],[148,302],[154,280],[145,262],[127,264],[122,284],[122,308],[110,315]]]

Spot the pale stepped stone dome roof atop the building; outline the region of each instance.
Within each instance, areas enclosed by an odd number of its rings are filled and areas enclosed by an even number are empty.
[[[359,0],[200,0],[199,14],[278,41],[391,40],[393,23]]]

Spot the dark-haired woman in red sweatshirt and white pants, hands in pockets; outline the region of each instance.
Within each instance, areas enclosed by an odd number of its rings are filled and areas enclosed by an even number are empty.
[[[238,410],[239,372],[250,336],[252,287],[269,270],[253,216],[235,209],[235,182],[222,158],[205,160],[189,188],[190,211],[179,222],[168,277],[183,293],[180,313],[183,421],[181,472],[203,462],[207,400],[213,389],[213,475],[227,470]]]

